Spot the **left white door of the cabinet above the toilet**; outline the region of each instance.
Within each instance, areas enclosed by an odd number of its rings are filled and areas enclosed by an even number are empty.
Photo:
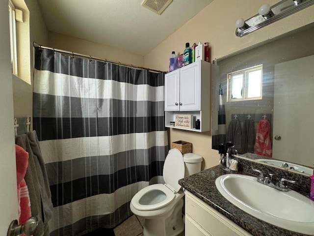
[[[179,70],[165,75],[165,111],[179,111]]]

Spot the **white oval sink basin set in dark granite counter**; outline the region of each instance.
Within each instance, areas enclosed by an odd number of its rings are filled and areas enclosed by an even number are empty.
[[[279,191],[245,175],[223,175],[215,183],[222,196],[254,217],[314,236],[314,201],[309,198],[293,190]]]

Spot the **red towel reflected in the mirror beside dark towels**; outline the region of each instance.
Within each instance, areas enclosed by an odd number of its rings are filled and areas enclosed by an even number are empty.
[[[269,138],[270,123],[268,119],[261,119],[257,127],[254,152],[258,155],[272,157],[272,148]]]

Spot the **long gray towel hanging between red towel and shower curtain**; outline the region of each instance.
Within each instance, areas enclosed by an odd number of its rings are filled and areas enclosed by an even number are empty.
[[[38,218],[38,226],[33,236],[49,236],[48,221],[52,217],[53,206],[36,131],[16,136],[15,143],[28,152],[25,181],[29,192],[31,214]]]

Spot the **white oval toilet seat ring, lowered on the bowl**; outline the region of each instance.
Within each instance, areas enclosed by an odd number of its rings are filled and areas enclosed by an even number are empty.
[[[146,198],[148,195],[153,198]],[[141,189],[131,200],[137,210],[155,210],[171,203],[176,195],[164,184],[152,184]]]

